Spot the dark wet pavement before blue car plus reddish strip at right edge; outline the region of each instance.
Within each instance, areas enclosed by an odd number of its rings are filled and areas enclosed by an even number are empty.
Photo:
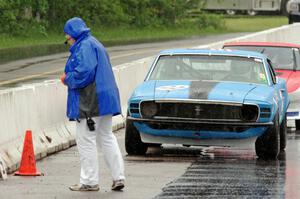
[[[300,198],[300,134],[289,134],[278,160],[257,159],[253,150],[203,150],[155,198]]]

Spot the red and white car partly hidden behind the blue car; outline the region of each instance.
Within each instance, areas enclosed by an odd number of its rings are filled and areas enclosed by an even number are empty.
[[[232,42],[225,49],[262,52],[272,61],[278,77],[284,78],[291,104],[287,119],[291,126],[300,130],[300,45],[275,42]]]

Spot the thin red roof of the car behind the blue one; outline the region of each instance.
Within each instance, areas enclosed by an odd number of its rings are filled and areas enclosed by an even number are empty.
[[[300,48],[298,44],[282,43],[282,42],[229,42],[224,46],[270,46],[270,47],[290,47]]]

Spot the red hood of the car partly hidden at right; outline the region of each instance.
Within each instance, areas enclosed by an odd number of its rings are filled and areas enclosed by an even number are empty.
[[[276,74],[285,79],[288,93],[292,93],[300,87],[300,71],[276,70]]]

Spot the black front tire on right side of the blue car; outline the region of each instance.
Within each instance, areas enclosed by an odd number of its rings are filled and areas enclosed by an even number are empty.
[[[267,129],[255,142],[256,155],[262,159],[276,159],[280,151],[280,127],[278,114],[274,118],[274,125]]]

